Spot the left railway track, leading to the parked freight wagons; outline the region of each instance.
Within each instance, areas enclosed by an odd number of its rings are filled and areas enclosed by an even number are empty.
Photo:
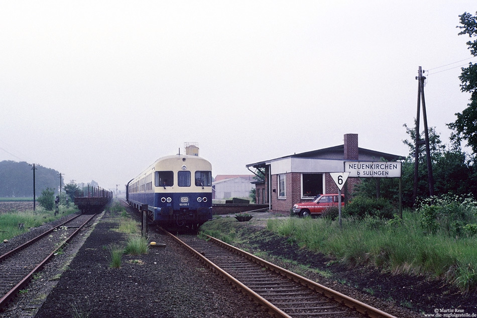
[[[0,308],[8,304],[79,230],[96,215],[76,215],[0,256]]]

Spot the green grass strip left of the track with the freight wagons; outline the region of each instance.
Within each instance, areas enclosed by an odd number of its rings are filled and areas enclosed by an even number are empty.
[[[71,205],[66,207],[59,206],[60,213],[55,216],[55,211],[48,211],[42,207],[37,207],[35,211],[9,211],[0,214],[0,241],[10,240],[11,238],[29,231],[29,228],[36,228],[45,223],[55,221],[66,215],[76,213],[78,209]],[[19,224],[24,224],[22,229]]]

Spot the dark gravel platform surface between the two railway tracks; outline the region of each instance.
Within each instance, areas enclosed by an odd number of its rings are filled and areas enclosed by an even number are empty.
[[[108,246],[125,245],[126,240],[125,234],[114,230],[117,228],[117,217],[101,218],[35,317],[73,317],[76,311],[83,317],[268,315],[163,234],[152,232],[149,239],[165,243],[166,248],[153,248],[145,255],[124,255],[121,268],[110,268]],[[41,280],[29,286],[31,292],[21,294],[0,315],[33,316],[36,310],[30,303],[46,296],[35,285],[58,280],[52,276],[57,269],[45,271]]]

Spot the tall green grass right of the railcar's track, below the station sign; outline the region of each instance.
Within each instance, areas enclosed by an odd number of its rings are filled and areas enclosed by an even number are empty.
[[[230,244],[246,240],[234,228],[239,223],[233,218],[221,219],[204,224],[204,233]],[[440,277],[462,292],[477,289],[476,237],[426,233],[420,226],[420,216],[411,211],[405,211],[402,222],[344,219],[342,229],[337,221],[327,219],[270,219],[267,230],[287,237],[300,248],[349,265]]]

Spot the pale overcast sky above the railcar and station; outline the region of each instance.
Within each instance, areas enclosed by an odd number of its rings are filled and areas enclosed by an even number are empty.
[[[407,155],[419,66],[430,70],[428,123],[444,142],[468,103],[459,66],[476,59],[456,26],[476,10],[439,0],[0,0],[0,161],[122,190],[184,142],[199,144],[214,176],[340,145],[346,133]]]

